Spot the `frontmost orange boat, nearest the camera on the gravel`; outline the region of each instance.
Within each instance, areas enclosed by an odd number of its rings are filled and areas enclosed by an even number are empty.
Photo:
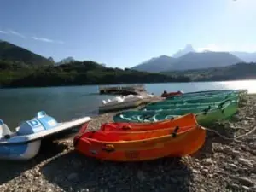
[[[96,159],[112,161],[155,160],[194,154],[206,138],[206,130],[196,120],[183,128],[135,132],[84,131],[73,139],[75,150]]]

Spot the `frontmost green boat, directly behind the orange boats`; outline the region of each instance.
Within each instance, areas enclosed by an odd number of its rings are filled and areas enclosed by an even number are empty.
[[[195,113],[201,125],[209,125],[219,119],[229,119],[238,109],[238,102],[226,100],[215,107],[177,108],[151,111],[126,111],[113,117],[114,122],[146,123],[172,119],[186,113]]]

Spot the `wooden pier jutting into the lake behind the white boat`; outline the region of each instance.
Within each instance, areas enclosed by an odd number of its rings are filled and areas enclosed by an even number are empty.
[[[146,92],[144,84],[122,85],[122,86],[99,86],[100,94],[113,94],[127,96],[140,95]]]

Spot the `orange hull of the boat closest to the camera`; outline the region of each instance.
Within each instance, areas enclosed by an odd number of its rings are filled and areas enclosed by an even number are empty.
[[[194,154],[202,147],[206,131],[201,126],[195,126],[187,131],[177,133],[175,137],[172,134],[167,134],[161,137],[132,141],[124,141],[121,136],[108,136],[106,134],[101,137],[101,140],[83,136],[76,137],[74,139],[75,149],[81,154],[96,159],[112,161],[155,160],[166,156],[181,157]]]

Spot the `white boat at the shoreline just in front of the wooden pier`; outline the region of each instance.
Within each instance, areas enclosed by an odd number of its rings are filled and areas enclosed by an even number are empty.
[[[114,111],[125,108],[135,108],[145,102],[150,102],[153,95],[145,94],[143,96],[116,96],[112,100],[102,100],[102,105],[99,107],[100,112]]]

